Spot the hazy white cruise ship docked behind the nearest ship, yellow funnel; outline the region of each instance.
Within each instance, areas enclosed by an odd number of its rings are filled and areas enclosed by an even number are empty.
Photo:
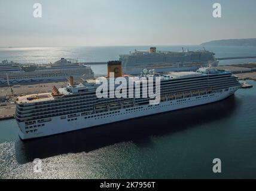
[[[200,67],[206,67],[209,63],[218,66],[219,61],[215,53],[211,51],[196,50],[189,51],[182,48],[181,52],[157,51],[151,47],[150,51],[135,50],[130,54],[121,54],[124,73],[131,75],[139,74],[143,69],[156,69],[156,72],[182,72],[196,71]]]

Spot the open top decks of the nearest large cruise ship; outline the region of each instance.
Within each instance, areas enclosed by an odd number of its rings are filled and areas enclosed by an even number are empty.
[[[189,80],[190,78],[200,78],[200,77],[207,77],[207,76],[219,76],[219,75],[231,75],[228,70],[220,70],[216,69],[215,67],[202,67],[197,72],[169,72],[166,74],[156,73],[153,70],[147,71],[145,69],[144,74],[141,73],[141,76],[124,76],[127,82],[132,80],[133,82],[144,82],[147,81],[148,77],[160,77],[160,81],[169,81],[169,80]],[[142,78],[142,77],[146,77]],[[71,94],[82,94],[82,93],[95,93],[97,87],[99,87],[103,82],[107,80],[109,84],[109,78],[99,77],[97,79],[89,79],[84,81],[81,84],[74,84],[72,81],[66,87],[59,88],[57,90],[56,87],[53,87],[51,92],[48,93],[39,93],[39,94],[29,94],[25,96],[19,96],[16,99],[17,104],[29,104],[29,103],[38,103],[43,101],[51,101],[55,100],[56,98],[63,98]],[[123,82],[122,82],[123,83]],[[119,84],[115,84],[114,86],[117,87]]]

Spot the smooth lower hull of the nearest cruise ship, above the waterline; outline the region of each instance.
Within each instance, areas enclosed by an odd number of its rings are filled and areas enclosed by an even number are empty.
[[[239,86],[230,87],[228,90],[222,90],[218,93],[188,97],[181,100],[163,101],[159,105],[135,106],[130,107],[129,109],[97,113],[104,115],[96,117],[94,117],[95,114],[91,116],[81,116],[81,113],[77,113],[77,116],[73,118],[65,119],[61,119],[60,116],[56,116],[51,118],[51,121],[45,122],[44,127],[38,127],[38,125],[41,126],[41,124],[35,124],[37,129],[36,133],[25,133],[28,131],[25,129],[25,122],[18,122],[20,128],[19,136],[22,140],[44,137],[53,134],[65,133],[68,131],[80,130],[83,128],[95,127],[97,125],[123,121],[126,119],[138,118],[142,116],[154,115],[157,113],[170,112],[187,107],[213,103],[233,95],[239,88]]]

